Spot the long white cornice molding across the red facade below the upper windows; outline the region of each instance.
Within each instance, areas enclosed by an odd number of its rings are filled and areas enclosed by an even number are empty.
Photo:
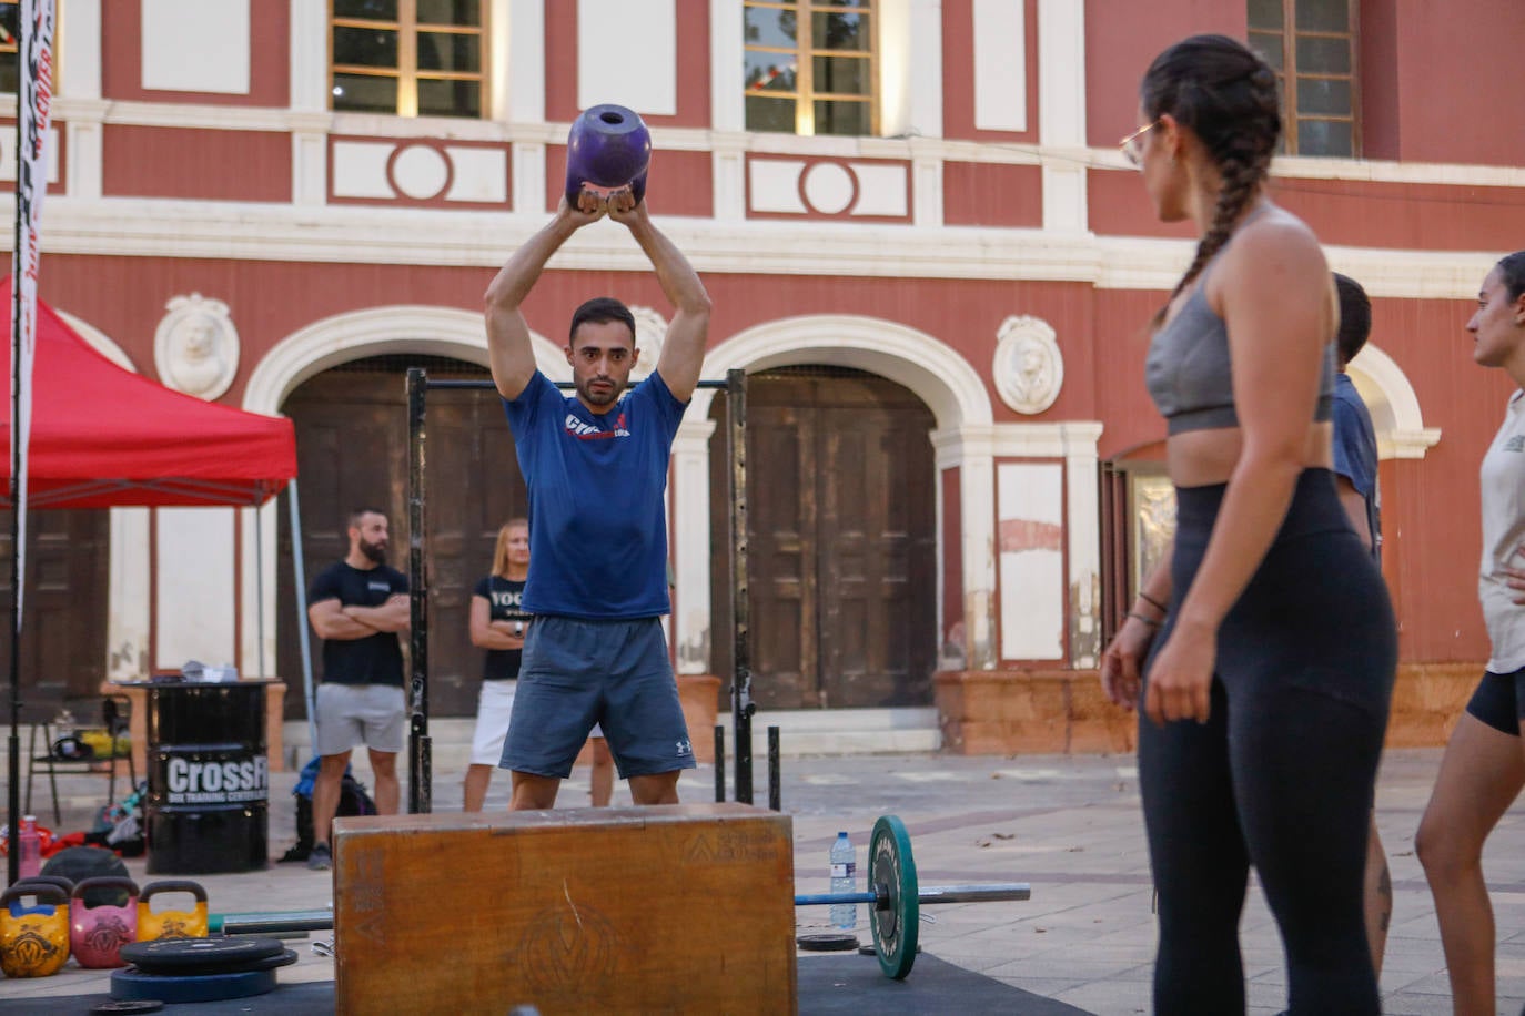
[[[11,198],[0,196],[0,213]],[[497,268],[546,222],[543,213],[294,207],[136,198],[49,200],[46,250],[124,257],[230,257],[299,264]],[[1190,241],[1052,235],[1042,230],[720,222],[663,218],[663,230],[705,273],[877,279],[1022,279],[1103,289],[1168,291]],[[418,238],[427,235],[429,244]],[[8,241],[9,238],[6,238]],[[0,250],[8,250],[0,241]],[[1330,247],[1330,264],[1377,297],[1470,299],[1498,251]],[[618,225],[578,232],[552,268],[647,271]]]

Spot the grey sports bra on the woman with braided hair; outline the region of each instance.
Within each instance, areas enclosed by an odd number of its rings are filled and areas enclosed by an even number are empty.
[[[1218,251],[1222,253],[1222,251]],[[1234,378],[1229,370],[1229,332],[1206,297],[1206,270],[1186,303],[1154,332],[1144,359],[1144,382],[1171,434],[1215,427],[1238,427]],[[1334,343],[1324,347],[1324,375],[1313,419],[1334,413]]]

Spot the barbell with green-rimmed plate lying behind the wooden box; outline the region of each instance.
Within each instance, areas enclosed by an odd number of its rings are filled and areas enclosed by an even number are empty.
[[[1026,899],[1032,899],[1032,887],[1026,882],[920,885],[906,824],[895,815],[881,815],[874,823],[874,833],[869,838],[868,890],[863,893],[807,893],[795,897],[795,906],[868,903],[871,906],[869,934],[874,938],[878,969],[883,970],[884,976],[901,981],[917,961],[917,935],[921,929],[923,906]],[[212,934],[226,935],[328,931],[334,926],[334,914],[326,909],[210,914],[207,925]]]

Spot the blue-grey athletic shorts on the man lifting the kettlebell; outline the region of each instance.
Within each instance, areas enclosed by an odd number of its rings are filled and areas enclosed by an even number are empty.
[[[621,778],[695,768],[660,618],[537,617],[502,768],[564,780],[593,725]]]

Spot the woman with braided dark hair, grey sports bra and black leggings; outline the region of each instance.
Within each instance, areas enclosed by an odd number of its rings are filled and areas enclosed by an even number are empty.
[[[1244,1010],[1255,865],[1289,1011],[1377,1013],[1362,870],[1397,634],[1330,471],[1330,268],[1266,195],[1281,113],[1260,56],[1220,35],[1171,46],[1144,76],[1139,123],[1122,149],[1156,215],[1200,233],[1145,361],[1174,548],[1103,661],[1109,695],[1142,707],[1154,1010]]]

